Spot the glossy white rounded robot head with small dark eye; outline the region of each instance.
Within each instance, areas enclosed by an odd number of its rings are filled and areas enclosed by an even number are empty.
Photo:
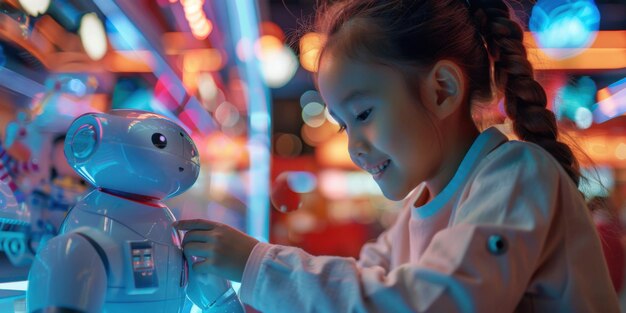
[[[157,199],[184,192],[200,171],[182,127],[138,110],[79,116],[67,130],[65,157],[95,187]]]

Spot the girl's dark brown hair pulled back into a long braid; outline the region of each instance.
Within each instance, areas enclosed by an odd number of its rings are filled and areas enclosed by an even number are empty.
[[[408,79],[439,60],[455,62],[468,79],[470,100],[484,102],[503,93],[515,134],[547,150],[579,183],[578,162],[558,141],[556,118],[534,79],[523,29],[504,1],[344,0],[318,4],[315,27],[327,38],[322,54],[341,51],[386,64]],[[413,75],[407,73],[411,70]]]

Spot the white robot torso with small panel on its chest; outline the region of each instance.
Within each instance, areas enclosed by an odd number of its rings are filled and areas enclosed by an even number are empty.
[[[104,312],[179,312],[186,263],[170,210],[100,190],[80,200],[62,234],[79,232],[99,246],[107,269]],[[132,302],[132,304],[131,304]]]

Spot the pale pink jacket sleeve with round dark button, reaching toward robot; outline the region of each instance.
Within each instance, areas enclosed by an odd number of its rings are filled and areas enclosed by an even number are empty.
[[[538,263],[563,173],[540,151],[503,150],[481,162],[453,225],[417,262],[387,271],[261,243],[242,300],[263,312],[512,312]]]

